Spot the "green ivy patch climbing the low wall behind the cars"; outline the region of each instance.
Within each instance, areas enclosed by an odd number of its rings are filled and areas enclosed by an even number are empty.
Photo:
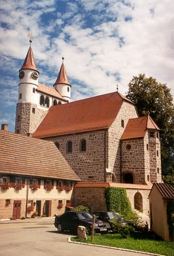
[[[105,198],[108,211],[114,211],[124,216],[132,213],[131,204],[127,197],[127,192],[125,188],[106,187]]]

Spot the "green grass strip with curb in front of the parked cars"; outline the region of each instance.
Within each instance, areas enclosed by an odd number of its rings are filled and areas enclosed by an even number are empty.
[[[71,241],[80,242],[77,237],[73,237]],[[127,239],[123,239],[120,234],[104,234],[102,236],[95,235],[93,243],[91,242],[90,236],[88,236],[88,240],[83,241],[83,243],[174,256],[174,243],[162,241],[150,232],[133,232],[129,237],[127,237]]]

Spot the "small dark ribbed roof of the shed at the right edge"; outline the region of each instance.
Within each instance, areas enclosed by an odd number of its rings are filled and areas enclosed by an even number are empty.
[[[153,186],[157,187],[162,199],[174,199],[174,185],[167,183],[154,183]]]

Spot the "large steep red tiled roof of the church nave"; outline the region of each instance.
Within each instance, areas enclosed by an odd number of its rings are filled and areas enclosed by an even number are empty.
[[[81,131],[108,129],[127,98],[118,92],[53,106],[33,137],[46,138]],[[128,100],[129,101],[129,100]],[[131,102],[131,101],[130,101]]]

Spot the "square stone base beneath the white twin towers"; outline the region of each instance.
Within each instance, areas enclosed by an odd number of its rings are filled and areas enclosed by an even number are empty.
[[[47,109],[43,110],[36,104],[18,103],[16,108],[15,133],[33,134],[40,122],[47,115]]]

